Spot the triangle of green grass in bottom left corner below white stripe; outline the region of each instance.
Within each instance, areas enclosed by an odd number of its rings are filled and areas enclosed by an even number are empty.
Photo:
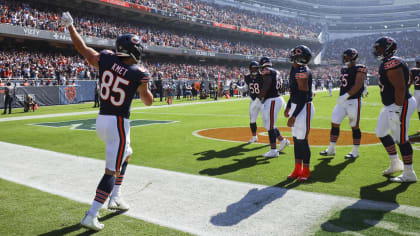
[[[2,179],[0,186],[0,200],[7,202],[0,205],[0,235],[94,233],[79,224],[80,213],[89,209],[88,205]],[[100,221],[106,224],[100,235],[190,235],[107,210],[101,210],[100,214]]]

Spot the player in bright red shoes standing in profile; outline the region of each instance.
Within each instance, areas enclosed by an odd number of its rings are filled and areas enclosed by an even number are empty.
[[[312,58],[312,52],[307,46],[299,45],[290,51],[289,58],[293,65],[289,76],[290,99],[284,116],[289,118],[287,126],[292,128],[295,169],[288,178],[306,181],[311,175],[308,135],[315,112],[312,103],[312,72],[307,66]]]

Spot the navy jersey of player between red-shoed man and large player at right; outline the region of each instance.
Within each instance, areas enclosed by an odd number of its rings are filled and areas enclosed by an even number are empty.
[[[340,96],[348,93],[356,83],[356,75],[358,72],[367,74],[367,68],[365,65],[355,65],[350,68],[347,66],[341,68],[341,85],[340,85]],[[364,81],[363,81],[364,82]],[[360,98],[363,94],[364,87],[362,86],[356,94],[349,97],[348,99]]]

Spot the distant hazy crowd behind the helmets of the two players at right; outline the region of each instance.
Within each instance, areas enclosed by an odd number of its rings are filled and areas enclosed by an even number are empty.
[[[398,33],[388,33],[386,35],[397,41],[397,56],[403,58],[414,58],[416,56],[420,56],[420,49],[418,47],[418,45],[420,45],[420,38],[418,37],[418,34],[418,31],[405,31]],[[324,58],[327,58],[327,60],[330,62],[336,61],[341,63],[341,57],[344,50],[347,48],[356,48],[359,52],[360,63],[364,63],[366,65],[377,65],[378,61],[372,54],[373,44],[376,39],[381,36],[383,36],[383,34],[372,34],[328,42]]]

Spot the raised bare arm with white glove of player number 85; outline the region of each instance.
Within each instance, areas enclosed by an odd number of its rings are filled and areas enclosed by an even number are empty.
[[[76,28],[74,28],[73,18],[71,17],[69,12],[63,12],[63,15],[61,17],[61,23],[68,28],[70,32],[71,41],[73,42],[73,45],[76,48],[76,50],[80,54],[82,54],[84,58],[86,58],[89,64],[94,66],[96,69],[99,69],[99,53],[93,48],[86,46],[82,37],[80,37],[79,33],[77,33]]]

